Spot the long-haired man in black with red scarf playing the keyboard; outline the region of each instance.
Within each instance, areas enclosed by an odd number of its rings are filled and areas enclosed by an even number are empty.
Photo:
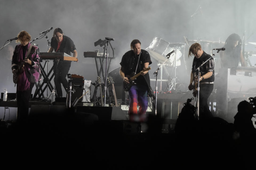
[[[75,48],[74,42],[67,36],[63,35],[63,31],[60,28],[55,28],[53,32],[53,37],[51,38],[51,48],[48,50],[48,52],[64,52],[68,55],[73,53],[73,57],[77,58],[77,50]],[[55,86],[56,86],[56,93],[58,97],[62,97],[62,89],[61,89],[61,83],[65,90],[67,90],[68,82],[66,79],[66,76],[69,72],[71,66],[71,61],[59,61],[57,70],[54,69],[54,72],[56,71],[56,77],[55,77]]]

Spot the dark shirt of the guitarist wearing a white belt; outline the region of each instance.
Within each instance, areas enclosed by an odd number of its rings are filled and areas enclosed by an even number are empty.
[[[209,58],[211,59],[208,60]],[[192,71],[195,72],[195,69],[197,69],[206,60],[208,61],[200,68],[201,76],[205,75],[208,72],[213,72],[213,75],[208,79],[201,80],[201,82],[214,82],[214,61],[211,55],[203,52],[200,58],[194,57]]]

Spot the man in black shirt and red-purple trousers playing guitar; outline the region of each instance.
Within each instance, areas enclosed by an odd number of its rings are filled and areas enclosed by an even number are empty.
[[[126,52],[121,60],[120,75],[124,83],[129,84],[128,77],[141,74],[134,80],[129,90],[130,107],[129,116],[131,121],[145,121],[148,105],[148,92],[150,92],[150,79],[147,67],[151,64],[150,55],[141,49],[141,42],[137,39],[131,42],[131,50]],[[137,111],[139,105],[139,112]]]

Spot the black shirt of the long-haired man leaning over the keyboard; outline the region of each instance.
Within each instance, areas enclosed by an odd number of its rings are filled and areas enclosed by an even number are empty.
[[[73,52],[76,48],[74,45],[74,42],[67,36],[63,36],[63,40],[61,43],[61,46],[59,47],[58,51],[58,41],[55,39],[55,37],[51,38],[51,47],[54,48],[55,52],[61,52],[71,55],[71,52]]]

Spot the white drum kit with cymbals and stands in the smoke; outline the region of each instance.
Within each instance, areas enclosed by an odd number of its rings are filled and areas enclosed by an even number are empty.
[[[166,74],[168,76],[168,79],[164,80],[164,79],[162,79],[162,77],[160,79],[161,83],[162,83],[162,81],[167,82],[167,88],[169,88],[168,89],[169,91],[172,88],[175,90],[175,85],[176,85],[175,79],[177,78],[176,77],[176,68],[177,67],[185,66],[184,71],[187,73],[185,75],[190,76],[194,57],[193,56],[188,57],[188,51],[189,51],[189,47],[192,44],[199,43],[202,46],[202,49],[207,54],[210,54],[210,55],[212,55],[211,50],[213,48],[221,48],[223,45],[225,45],[225,42],[221,42],[221,41],[207,41],[207,40],[201,40],[201,39],[188,40],[187,37],[184,37],[184,40],[185,40],[184,43],[169,43],[168,41],[165,41],[162,38],[154,37],[154,39],[150,43],[149,47],[146,48],[146,50],[150,54],[150,57],[152,57],[156,61],[158,61],[158,65],[160,65],[162,62],[164,62],[166,60],[166,58],[167,58],[166,55],[168,53],[175,50],[175,52],[170,55],[169,59],[166,61],[165,65],[163,66],[163,68],[165,69]],[[182,54],[182,52],[183,52],[183,54]],[[183,55],[183,59],[182,59],[182,55]],[[183,60],[183,62],[182,62],[182,60]],[[218,56],[214,58],[214,62],[215,63],[219,62],[219,65],[220,65],[220,59]],[[182,66],[183,63],[184,63],[184,66]],[[168,69],[166,68],[166,66],[175,68],[175,75],[172,79],[169,76]],[[161,73],[162,73],[162,70],[161,70]],[[162,74],[161,74],[161,76],[162,76]],[[169,82],[169,84],[168,84],[168,82]],[[161,89],[161,87],[160,87],[160,89]]]

